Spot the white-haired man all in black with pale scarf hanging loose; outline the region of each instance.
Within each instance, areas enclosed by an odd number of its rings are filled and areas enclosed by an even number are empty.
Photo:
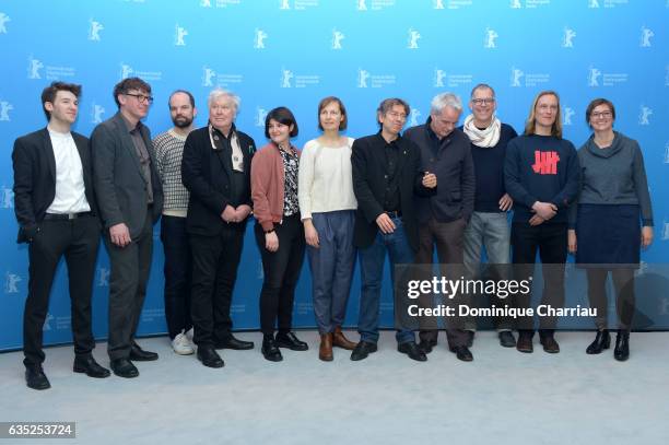
[[[222,367],[215,349],[253,349],[232,335],[230,308],[251,212],[250,163],[256,143],[235,127],[239,97],[209,94],[209,124],[184,145],[181,177],[190,191],[186,231],[192,249],[192,325],[198,360]]]

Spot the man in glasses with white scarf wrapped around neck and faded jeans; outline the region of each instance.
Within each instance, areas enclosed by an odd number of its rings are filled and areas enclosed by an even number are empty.
[[[485,247],[490,278],[508,279],[510,253],[510,230],[506,213],[514,204],[504,187],[504,157],[506,144],[518,136],[509,125],[502,124],[495,116],[497,103],[492,86],[480,83],[471,90],[469,101],[471,115],[465,118],[460,127],[471,140],[471,156],[476,173],[474,209],[465,230],[465,266],[468,276],[479,278],[481,250]],[[491,295],[496,307],[507,304],[505,298]],[[500,344],[514,348],[516,339],[512,332],[512,320],[508,317],[495,319]],[[473,340],[476,321],[469,331]]]

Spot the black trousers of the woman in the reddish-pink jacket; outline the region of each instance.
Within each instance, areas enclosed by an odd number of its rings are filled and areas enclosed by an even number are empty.
[[[262,226],[256,223],[254,229],[265,274],[260,292],[260,329],[265,335],[274,333],[277,324],[280,332],[287,332],[293,326],[295,286],[306,245],[300,214],[284,218],[283,223],[274,227],[279,250],[273,253],[265,248]]]

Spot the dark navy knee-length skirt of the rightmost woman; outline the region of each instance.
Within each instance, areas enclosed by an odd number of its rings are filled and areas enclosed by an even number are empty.
[[[607,265],[610,268],[610,265],[620,265],[620,267],[638,268],[641,250],[638,206],[579,204],[577,214],[578,267]]]

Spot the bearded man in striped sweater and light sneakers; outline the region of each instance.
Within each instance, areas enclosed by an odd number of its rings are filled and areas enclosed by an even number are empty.
[[[186,137],[197,115],[192,94],[177,90],[169,96],[174,127],[153,140],[155,162],[163,184],[164,203],[161,241],[165,253],[165,318],[172,349],[177,354],[195,352],[186,332],[190,321],[190,247],[186,233],[188,190],[181,183],[181,157]]]

